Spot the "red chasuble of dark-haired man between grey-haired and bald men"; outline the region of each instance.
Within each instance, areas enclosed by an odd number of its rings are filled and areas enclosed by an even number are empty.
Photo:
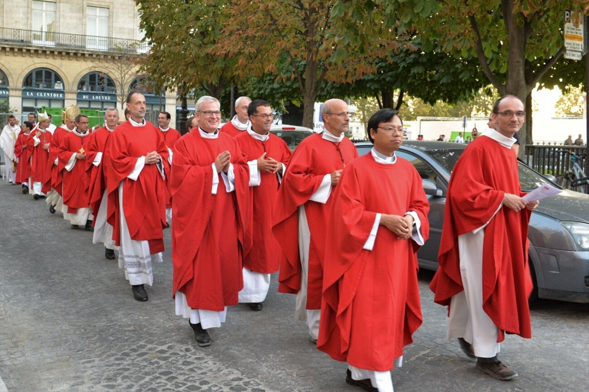
[[[287,165],[290,149],[283,139],[270,134],[265,141],[256,140],[247,131],[235,138],[247,161],[254,161],[266,152],[266,157]],[[276,173],[260,171],[261,182],[257,187],[250,187],[250,215],[252,219],[247,230],[252,233],[253,246],[248,254],[243,255],[243,265],[250,271],[272,274],[278,271],[280,245],[272,234],[272,211],[276,204],[279,181]]]

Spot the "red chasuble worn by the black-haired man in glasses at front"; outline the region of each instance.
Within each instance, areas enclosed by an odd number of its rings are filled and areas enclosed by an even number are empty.
[[[423,240],[428,199],[421,177],[403,158],[381,164],[372,154],[343,171],[327,219],[323,301],[317,348],[366,370],[388,371],[422,322],[417,281],[419,245],[379,226],[372,251],[363,249],[376,213],[415,211]]]

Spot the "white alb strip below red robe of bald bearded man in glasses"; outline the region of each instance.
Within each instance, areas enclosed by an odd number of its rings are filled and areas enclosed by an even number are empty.
[[[300,290],[296,294],[296,307],[294,308],[294,318],[296,320],[306,320],[309,328],[309,335],[313,339],[319,337],[319,319],[321,318],[320,309],[307,309],[307,276],[309,274],[309,247],[311,243],[311,232],[305,206],[299,207],[299,255],[301,265]]]

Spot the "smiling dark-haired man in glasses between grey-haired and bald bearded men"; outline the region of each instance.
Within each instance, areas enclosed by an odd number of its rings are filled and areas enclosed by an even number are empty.
[[[278,271],[282,251],[272,235],[272,211],[280,180],[290,160],[290,149],[283,139],[270,133],[272,108],[262,99],[254,99],[248,108],[252,127],[235,137],[246,154],[250,168],[250,230],[252,250],[243,255],[243,289],[239,302],[252,310],[262,310],[270,288],[270,274]]]

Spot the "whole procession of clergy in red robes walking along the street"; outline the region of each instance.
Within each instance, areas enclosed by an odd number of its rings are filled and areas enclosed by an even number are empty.
[[[74,105],[53,132],[45,113],[20,129],[9,118],[0,137],[8,181],[45,198],[72,228],[93,231],[106,258],[118,250],[138,301],[148,300],[144,285],[153,284],[171,227],[176,314],[188,318],[198,346],[211,344],[209,328],[221,326],[228,306],[262,310],[279,271],[279,292],[296,294],[295,316],[310,340],[348,363],[346,383],[392,391],[391,369],[422,323],[416,251],[429,232],[422,179],[395,155],[405,133],[398,112],[369,119],[374,147],[358,157],[340,99],[322,105],[323,131],[293,153],[269,132],[273,110],[261,99],[238,98],[236,116],[219,128],[219,101],[201,97],[185,135],[169,127],[167,112],[158,127],[145,121],[139,92],[126,107],[127,121],[108,108],[93,132]],[[475,139],[456,165],[431,285],[449,306],[446,337],[459,338],[477,368],[499,380],[517,376],[497,357],[504,334],[531,337],[523,270],[537,202],[521,198],[510,150],[522,113],[518,98],[499,99],[489,125],[497,130]]]

